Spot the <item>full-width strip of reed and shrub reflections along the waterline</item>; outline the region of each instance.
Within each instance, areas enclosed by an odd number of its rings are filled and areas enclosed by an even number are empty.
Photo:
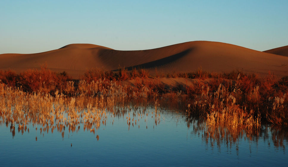
[[[129,107],[128,107],[129,108]],[[89,113],[89,109],[87,110]],[[79,113],[86,113],[87,111],[79,112]],[[76,132],[80,130],[81,126],[84,131],[90,131],[90,133],[95,134],[95,131],[99,129],[101,125],[106,126],[107,124],[107,118],[109,118],[109,122],[114,124],[114,119],[119,118],[126,118],[126,124],[128,127],[128,130],[130,130],[130,127],[138,127],[140,129],[140,122],[145,122],[145,128],[148,128],[148,119],[153,120],[152,126],[157,126],[161,122],[161,113],[164,111],[160,110],[157,111],[157,108],[151,107],[150,111],[147,107],[139,107],[136,105],[134,106],[134,109],[128,109],[128,110],[120,110],[119,108],[115,111],[110,113],[103,111],[102,114],[100,114],[100,121],[96,122],[90,122],[91,119],[90,116],[88,116],[88,119],[80,119],[78,122],[78,126],[75,126],[72,123],[69,123],[67,121],[65,122],[57,122],[55,119],[55,122],[46,122],[46,124],[37,124],[36,122],[32,122],[32,127],[36,130],[36,132],[40,132],[40,135],[44,136],[44,133],[49,133],[49,130],[51,133],[54,132],[54,130],[57,130],[57,133],[60,133],[62,136],[62,140],[64,140],[65,137],[65,128],[68,128],[67,133]],[[174,112],[177,115],[174,115],[174,123],[177,124],[179,121],[179,118],[182,115],[179,113],[179,111],[170,111]],[[103,118],[101,116],[104,116]],[[183,117],[184,115],[182,115]],[[29,117],[29,115],[28,115]],[[81,114],[82,117],[82,114]],[[175,119],[176,118],[176,119]],[[4,118],[3,118],[4,119]],[[30,120],[36,120],[35,118],[30,118]],[[165,120],[164,116],[162,116],[162,120]],[[188,121],[187,121],[188,120]],[[71,120],[70,120],[71,121]],[[284,127],[279,126],[262,126],[259,129],[242,129],[242,128],[235,128],[231,129],[225,126],[217,126],[217,127],[211,127],[207,126],[206,122],[203,120],[196,120],[195,118],[186,118],[187,121],[187,127],[190,129],[192,127],[191,134],[201,136],[202,140],[205,142],[205,144],[211,148],[211,149],[221,149],[221,146],[225,146],[226,149],[231,149],[232,146],[236,146],[235,151],[238,155],[239,147],[238,145],[241,143],[242,140],[251,141],[254,144],[258,144],[259,139],[262,138],[263,141],[267,142],[268,146],[273,145],[275,148],[279,148],[283,151],[285,151],[285,146],[287,146],[288,143],[288,130]],[[2,120],[0,122],[0,125],[2,125]],[[9,127],[9,123],[7,120],[5,121],[6,127]],[[38,122],[39,123],[39,122]],[[150,121],[151,124],[151,121]],[[27,125],[29,123],[27,122]],[[29,133],[29,127],[27,125],[16,125],[15,122],[10,124],[10,132],[12,133],[12,138],[15,136],[15,129],[18,131],[18,133],[21,133],[23,135],[24,132]],[[81,126],[80,126],[81,125]],[[16,126],[16,128],[15,128]],[[39,131],[38,128],[40,127]],[[37,134],[37,133],[36,133]],[[97,141],[99,141],[99,135],[96,134]],[[37,141],[37,136],[35,138]],[[260,142],[263,142],[260,141]]]

